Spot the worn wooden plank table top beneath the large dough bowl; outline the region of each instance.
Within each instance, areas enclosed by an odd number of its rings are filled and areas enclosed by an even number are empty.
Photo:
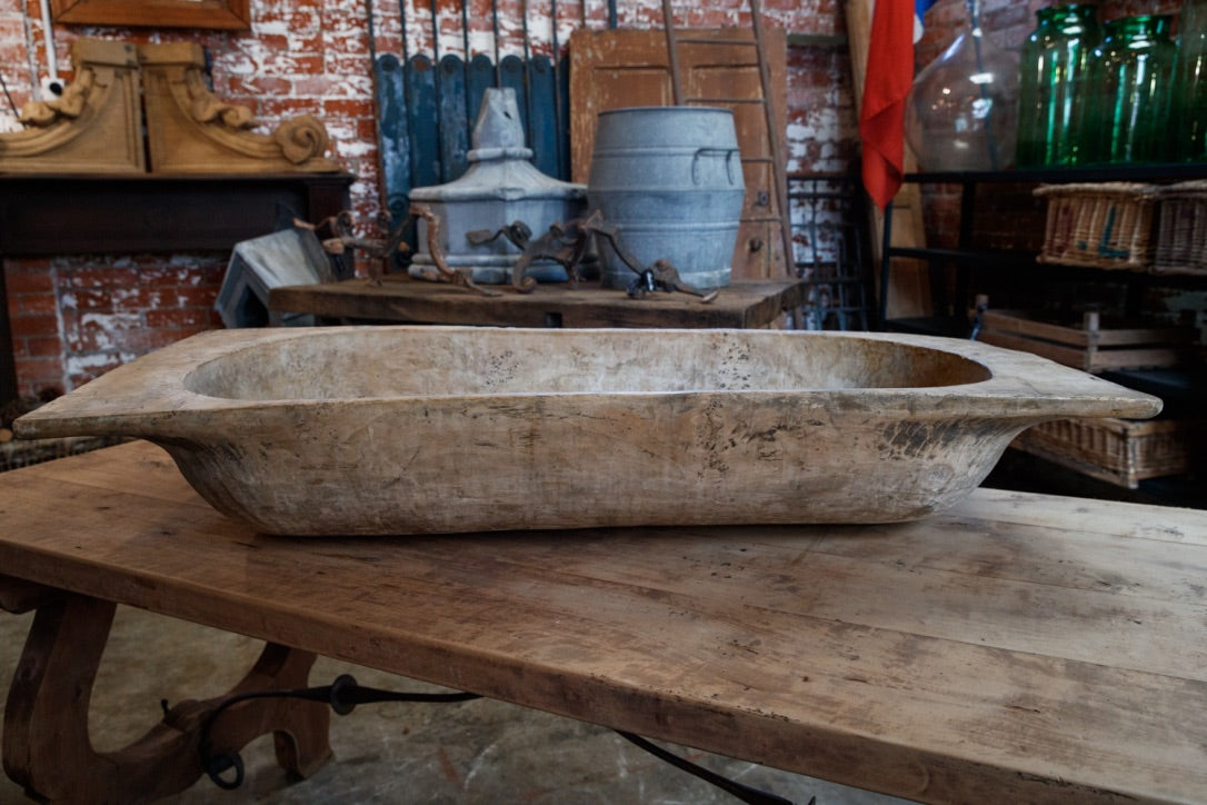
[[[838,782],[1207,799],[1200,511],[281,538],[136,442],[0,474],[0,573]]]

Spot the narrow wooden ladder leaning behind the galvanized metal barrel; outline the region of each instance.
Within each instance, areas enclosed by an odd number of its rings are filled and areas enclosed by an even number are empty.
[[[760,0],[750,0],[751,21],[754,39],[690,39],[681,37],[675,33],[675,17],[671,12],[671,0],[663,0],[663,28],[666,31],[666,56],[671,74],[671,92],[675,105],[686,104],[700,105],[735,105],[735,104],[759,104],[763,106],[763,117],[766,127],[768,151],[770,157],[742,157],[742,163],[770,163],[772,183],[775,185],[775,204],[779,215],[747,217],[744,222],[771,222],[779,223],[783,249],[783,267],[788,276],[797,276],[797,261],[792,249],[792,215],[788,209],[788,179],[787,157],[783,148],[783,129],[776,121],[775,104],[772,103],[771,71],[764,57],[763,34],[763,8]],[[684,98],[683,86],[680,77],[678,46],[680,45],[740,45],[753,47],[757,63],[748,66],[757,66],[759,75],[759,98]]]

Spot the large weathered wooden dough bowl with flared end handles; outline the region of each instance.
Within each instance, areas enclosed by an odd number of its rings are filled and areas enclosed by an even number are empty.
[[[1160,407],[932,337],[320,327],[194,336],[17,433],[147,438],[266,532],[418,533],[914,519],[1031,425]]]

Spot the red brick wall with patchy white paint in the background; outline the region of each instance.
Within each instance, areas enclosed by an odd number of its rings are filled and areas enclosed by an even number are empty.
[[[468,0],[470,48],[492,56],[491,4]],[[362,0],[252,0],[246,33],[170,29],[56,27],[62,68],[70,42],[81,35],[126,41],[191,40],[212,58],[215,93],[246,105],[266,129],[284,117],[319,116],[333,141],[333,157],[358,179],[352,186],[357,214],[372,220],[378,196],[377,147],[369,72],[371,46],[378,54],[402,54],[400,5],[375,0],[369,42]],[[527,7],[532,52],[549,52],[553,29],[540,2],[497,0],[501,53],[520,53],[521,8]],[[986,28],[1007,47],[1018,47],[1040,4],[985,0]],[[1142,0],[1106,0],[1108,16],[1148,6]],[[1168,1],[1158,4],[1168,7]],[[441,53],[460,52],[460,2],[439,0]],[[748,24],[745,0],[696,4],[676,0],[676,22],[686,25]],[[406,16],[407,53],[431,52],[430,5],[410,0]],[[600,0],[558,4],[558,42],[565,47],[578,27],[607,25]],[[791,34],[834,36],[845,33],[838,0],[765,0],[764,12]],[[27,18],[27,14],[29,17]],[[943,0],[928,14],[928,33],[919,48],[925,64],[955,36],[963,0]],[[619,25],[660,27],[659,0],[619,4]],[[43,30],[37,4],[0,0],[0,70],[18,104],[28,100],[45,75]],[[789,170],[849,171],[858,157],[857,126],[846,49],[833,45],[794,46],[789,52]],[[0,98],[0,105],[5,101]],[[935,206],[932,220],[946,220]],[[932,227],[933,229],[934,227]],[[941,234],[935,232],[935,237]],[[70,389],[105,369],[199,328],[217,326],[211,311],[228,255],[70,255],[52,259],[4,261],[16,357],[22,391],[46,386]]]

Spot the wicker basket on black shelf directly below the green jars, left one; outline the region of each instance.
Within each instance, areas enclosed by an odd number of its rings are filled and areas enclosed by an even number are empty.
[[[1048,198],[1039,262],[1148,270],[1156,186],[1084,182],[1044,185],[1034,193]]]

